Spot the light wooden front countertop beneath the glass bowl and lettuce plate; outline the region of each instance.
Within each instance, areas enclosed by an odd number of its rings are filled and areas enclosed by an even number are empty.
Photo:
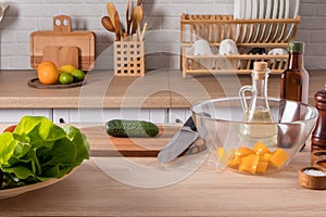
[[[309,144],[284,170],[248,176],[229,170],[217,173],[206,152],[180,157],[165,166],[155,157],[105,156],[103,145],[108,144],[108,137],[98,131],[84,130],[91,149],[103,151],[104,155],[92,156],[76,173],[52,186],[0,200],[0,215],[326,215],[325,191],[298,186],[298,170],[310,163]],[[166,133],[173,136],[173,131]],[[193,167],[193,162],[199,166]]]

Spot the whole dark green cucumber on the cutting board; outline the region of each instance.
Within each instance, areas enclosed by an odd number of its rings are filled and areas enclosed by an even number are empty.
[[[150,122],[112,119],[105,124],[106,133],[112,137],[155,137],[159,127]]]

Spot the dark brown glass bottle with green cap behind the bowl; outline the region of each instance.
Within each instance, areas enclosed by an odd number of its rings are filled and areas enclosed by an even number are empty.
[[[304,53],[304,43],[300,41],[292,41],[288,44],[289,59],[288,67],[281,74],[280,81],[280,98],[285,100],[292,100],[298,102],[308,103],[309,99],[309,73],[304,68],[303,53]],[[284,102],[285,103],[285,102]],[[280,103],[280,113],[283,112],[283,102]],[[283,114],[280,114],[280,119]],[[292,117],[292,120],[300,119],[300,107],[297,108],[296,114]],[[289,138],[296,137],[299,132],[294,129],[289,129],[286,132]],[[285,141],[278,141],[279,145],[291,146],[292,139]],[[301,150],[305,146],[302,145]]]

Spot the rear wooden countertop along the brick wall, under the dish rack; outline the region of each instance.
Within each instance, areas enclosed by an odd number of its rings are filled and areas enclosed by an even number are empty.
[[[326,81],[324,71],[310,72],[310,103]],[[143,107],[187,108],[199,101],[238,95],[250,75],[193,75],[181,77],[179,71],[159,69],[145,77],[115,77],[113,72],[89,72],[87,85],[71,89],[35,89],[27,80],[35,71],[0,71],[0,108],[78,108]],[[268,95],[279,95],[279,75],[272,75]]]

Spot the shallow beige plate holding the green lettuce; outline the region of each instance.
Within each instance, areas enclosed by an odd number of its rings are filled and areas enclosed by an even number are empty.
[[[77,170],[77,168],[78,167],[75,167],[73,170],[71,170],[71,173],[66,174],[65,176],[63,176],[60,179],[54,179],[53,178],[53,179],[48,179],[47,181],[34,183],[34,184],[28,184],[28,186],[13,188],[13,189],[0,190],[0,200],[17,196],[17,195],[26,193],[28,191],[34,191],[34,190],[37,190],[37,189],[41,189],[41,188],[51,186],[53,183],[57,183],[59,181],[62,181],[63,179],[67,178],[72,174],[74,174]]]

